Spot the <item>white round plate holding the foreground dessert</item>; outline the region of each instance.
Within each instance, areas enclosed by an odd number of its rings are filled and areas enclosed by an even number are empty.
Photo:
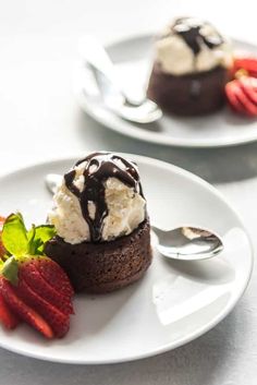
[[[178,167],[131,156],[142,175],[148,210],[161,227],[196,224],[223,237],[216,258],[183,263],[155,253],[145,277],[121,291],[76,296],[76,315],[63,339],[47,341],[26,325],[0,327],[0,346],[65,363],[130,361],[174,349],[217,325],[235,305],[250,277],[253,251],[236,213],[211,185]],[[48,172],[63,173],[75,159],[46,163],[0,178],[1,215],[22,210],[27,224],[45,221],[51,196]]]

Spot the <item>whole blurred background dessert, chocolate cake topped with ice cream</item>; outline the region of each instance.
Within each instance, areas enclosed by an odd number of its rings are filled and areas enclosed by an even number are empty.
[[[216,111],[232,65],[232,45],[211,24],[176,19],[156,40],[148,97],[178,115]]]

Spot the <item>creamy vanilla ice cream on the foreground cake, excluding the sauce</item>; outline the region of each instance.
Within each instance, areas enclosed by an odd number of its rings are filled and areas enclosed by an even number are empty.
[[[83,171],[85,164],[76,166],[74,184],[82,191],[86,183]],[[103,219],[101,240],[110,241],[128,234],[145,219],[146,201],[117,178],[105,181],[105,200],[108,215]],[[90,241],[89,227],[83,217],[78,198],[66,188],[65,181],[59,187],[53,196],[54,207],[49,213],[49,222],[54,225],[57,233],[65,242],[75,244]],[[95,218],[95,203],[88,202],[90,218]]]

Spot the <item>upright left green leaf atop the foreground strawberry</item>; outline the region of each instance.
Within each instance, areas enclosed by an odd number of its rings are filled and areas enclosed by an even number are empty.
[[[9,215],[3,224],[1,238],[5,250],[10,254],[15,256],[27,254],[27,230],[21,213]]]

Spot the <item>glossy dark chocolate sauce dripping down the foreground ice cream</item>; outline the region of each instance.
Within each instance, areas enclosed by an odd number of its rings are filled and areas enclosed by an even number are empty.
[[[118,160],[118,161],[117,161]],[[124,168],[119,164],[122,163]],[[105,181],[108,178],[117,178],[122,183],[132,188],[135,193],[139,193],[143,197],[139,175],[136,165],[111,153],[93,153],[86,158],[78,160],[74,167],[85,163],[84,189],[79,191],[74,184],[76,171],[72,169],[64,175],[66,188],[78,198],[83,217],[85,218],[90,232],[90,240],[98,242],[101,240],[101,230],[103,219],[108,215],[108,206],[106,203]],[[89,216],[88,203],[93,202],[96,206],[95,218]]]

